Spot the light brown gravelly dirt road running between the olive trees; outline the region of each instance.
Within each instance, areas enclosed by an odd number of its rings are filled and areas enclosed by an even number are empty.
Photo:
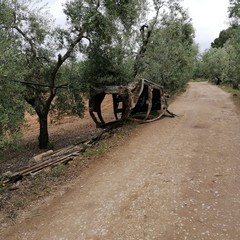
[[[230,95],[191,83],[170,109],[180,117],[138,127],[0,238],[240,239],[240,120]]]

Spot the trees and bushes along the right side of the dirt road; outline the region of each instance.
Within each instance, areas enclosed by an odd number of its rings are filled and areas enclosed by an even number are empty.
[[[240,88],[240,1],[230,0],[228,29],[222,30],[211,48],[198,57],[194,79],[209,79],[216,85]],[[224,89],[228,89],[224,87]],[[239,94],[238,91],[231,91]]]

